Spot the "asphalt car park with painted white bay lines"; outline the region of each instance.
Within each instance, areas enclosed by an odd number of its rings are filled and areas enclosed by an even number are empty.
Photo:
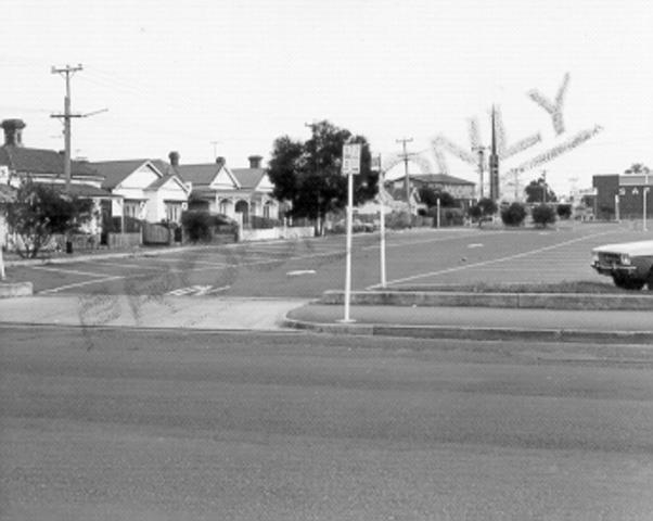
[[[596,281],[593,246],[651,239],[628,224],[572,225],[549,230],[476,228],[390,232],[386,240],[390,288],[468,283]],[[162,251],[124,258],[16,267],[35,293],[230,295],[313,297],[342,289],[345,237],[239,243]],[[353,287],[380,282],[380,237],[354,238]]]

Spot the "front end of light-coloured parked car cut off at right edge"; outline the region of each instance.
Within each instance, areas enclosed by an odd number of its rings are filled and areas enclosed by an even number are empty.
[[[592,268],[609,275],[618,288],[653,291],[653,241],[605,244],[592,250]]]

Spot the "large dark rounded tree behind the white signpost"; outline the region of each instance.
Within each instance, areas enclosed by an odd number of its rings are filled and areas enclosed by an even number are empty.
[[[274,185],[273,195],[291,203],[290,214],[323,221],[328,212],[347,205],[347,178],[341,171],[343,145],[360,143],[360,174],[354,176],[354,204],[376,194],[377,174],[370,169],[367,139],[323,120],[311,125],[306,141],[282,136],[274,140],[268,176]]]

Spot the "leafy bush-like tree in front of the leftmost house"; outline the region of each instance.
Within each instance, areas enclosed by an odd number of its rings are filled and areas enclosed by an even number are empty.
[[[25,181],[8,204],[7,223],[21,239],[22,257],[36,257],[55,233],[79,229],[93,216],[93,201],[62,193],[52,186]]]

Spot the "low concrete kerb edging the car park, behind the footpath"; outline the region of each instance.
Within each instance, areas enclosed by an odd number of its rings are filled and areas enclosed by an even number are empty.
[[[342,305],[343,291],[330,290],[322,294],[321,304]],[[474,293],[454,291],[355,291],[353,305],[375,306],[453,306],[507,307],[539,309],[627,309],[653,310],[653,295],[600,293]]]

